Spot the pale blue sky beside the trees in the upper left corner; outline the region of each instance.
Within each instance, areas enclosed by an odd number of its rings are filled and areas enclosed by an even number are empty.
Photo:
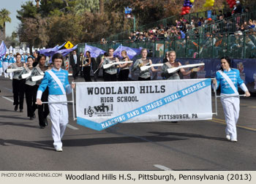
[[[16,31],[18,28],[18,24],[20,23],[20,20],[16,18],[17,10],[21,9],[21,4],[26,2],[28,0],[0,0],[0,9],[7,9],[10,14],[10,18],[12,19],[12,23],[6,24],[6,34],[7,36],[11,36],[12,31]],[[34,1],[34,0],[32,0]],[[35,4],[35,2],[34,2]]]

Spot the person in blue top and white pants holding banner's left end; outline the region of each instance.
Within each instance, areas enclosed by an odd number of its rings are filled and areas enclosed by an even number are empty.
[[[50,102],[67,101],[66,93],[71,93],[75,84],[69,85],[68,72],[61,69],[61,64],[64,61],[60,53],[53,55],[53,69],[45,72],[45,77],[37,91],[37,104],[42,104],[41,97],[43,91],[49,88],[49,108],[50,120],[52,122],[53,146],[56,151],[62,151],[61,138],[64,136],[64,131],[68,123],[67,103],[54,104]]]

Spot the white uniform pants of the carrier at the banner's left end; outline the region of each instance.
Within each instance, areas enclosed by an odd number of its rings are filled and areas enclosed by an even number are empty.
[[[66,95],[49,95],[48,101],[67,101]],[[52,136],[54,147],[62,147],[61,138],[64,136],[64,132],[69,122],[69,114],[67,110],[67,103],[65,104],[49,104],[50,120],[52,122]]]

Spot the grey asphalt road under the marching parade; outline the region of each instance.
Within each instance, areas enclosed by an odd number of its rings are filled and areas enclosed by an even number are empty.
[[[2,171],[256,170],[255,95],[241,98],[236,143],[225,139],[225,120],[219,100],[219,114],[213,120],[120,123],[104,131],[76,124],[69,105],[64,151],[57,153],[53,149],[50,125],[38,129],[38,119],[26,117],[25,101],[24,112],[14,112],[11,80],[0,77],[0,84]]]

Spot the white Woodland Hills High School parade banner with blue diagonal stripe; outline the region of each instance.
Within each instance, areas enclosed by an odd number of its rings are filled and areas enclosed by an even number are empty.
[[[117,123],[212,118],[211,79],[76,83],[78,124],[101,131]]]

